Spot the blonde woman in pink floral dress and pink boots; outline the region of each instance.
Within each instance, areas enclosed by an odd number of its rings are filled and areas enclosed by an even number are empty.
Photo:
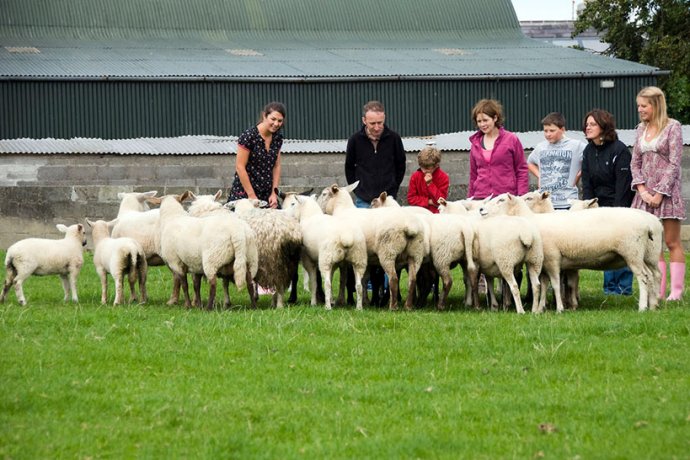
[[[681,300],[685,287],[685,253],[680,239],[680,223],[685,220],[681,194],[681,156],[683,133],[677,120],[666,113],[666,98],[655,86],[637,94],[637,112],[641,123],[633,147],[632,187],[637,191],[632,207],[647,211],[664,226],[664,240],[669,250],[671,293],[666,300]],[[660,297],[666,295],[666,260],[662,251]]]

